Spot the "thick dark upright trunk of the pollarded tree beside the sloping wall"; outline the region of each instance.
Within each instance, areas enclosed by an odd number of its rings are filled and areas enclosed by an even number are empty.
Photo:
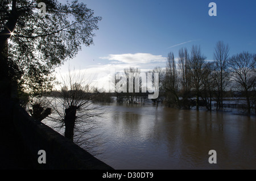
[[[65,117],[64,117],[65,137],[71,141],[73,141],[73,136],[74,136],[76,111],[77,111],[76,106],[71,106],[65,109]]]

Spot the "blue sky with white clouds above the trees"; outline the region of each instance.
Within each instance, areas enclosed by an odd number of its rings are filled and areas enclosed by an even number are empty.
[[[235,0],[83,0],[94,15],[101,16],[94,45],[82,47],[66,62],[75,69],[97,72],[137,66],[164,68],[169,52],[200,45],[213,60],[217,41],[229,44],[230,56],[243,50],[256,53],[256,1]],[[210,2],[217,16],[209,16]]]

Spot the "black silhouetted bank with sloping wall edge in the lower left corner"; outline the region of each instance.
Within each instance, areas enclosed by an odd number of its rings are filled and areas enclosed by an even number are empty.
[[[113,170],[88,151],[33,119],[18,104],[0,99],[1,170]],[[39,151],[46,162],[39,163]]]

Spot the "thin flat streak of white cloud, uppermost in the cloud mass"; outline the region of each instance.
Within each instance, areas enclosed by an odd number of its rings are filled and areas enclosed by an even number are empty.
[[[162,55],[154,55],[150,53],[126,53],[126,54],[109,54],[107,57],[100,57],[101,59],[113,60],[123,62],[125,64],[148,64],[151,62],[166,62],[166,57]]]

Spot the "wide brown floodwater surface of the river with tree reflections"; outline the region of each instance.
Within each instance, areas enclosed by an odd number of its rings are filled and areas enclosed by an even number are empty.
[[[93,151],[114,169],[256,169],[256,119],[225,112],[102,106]],[[217,163],[210,164],[210,150]]]

